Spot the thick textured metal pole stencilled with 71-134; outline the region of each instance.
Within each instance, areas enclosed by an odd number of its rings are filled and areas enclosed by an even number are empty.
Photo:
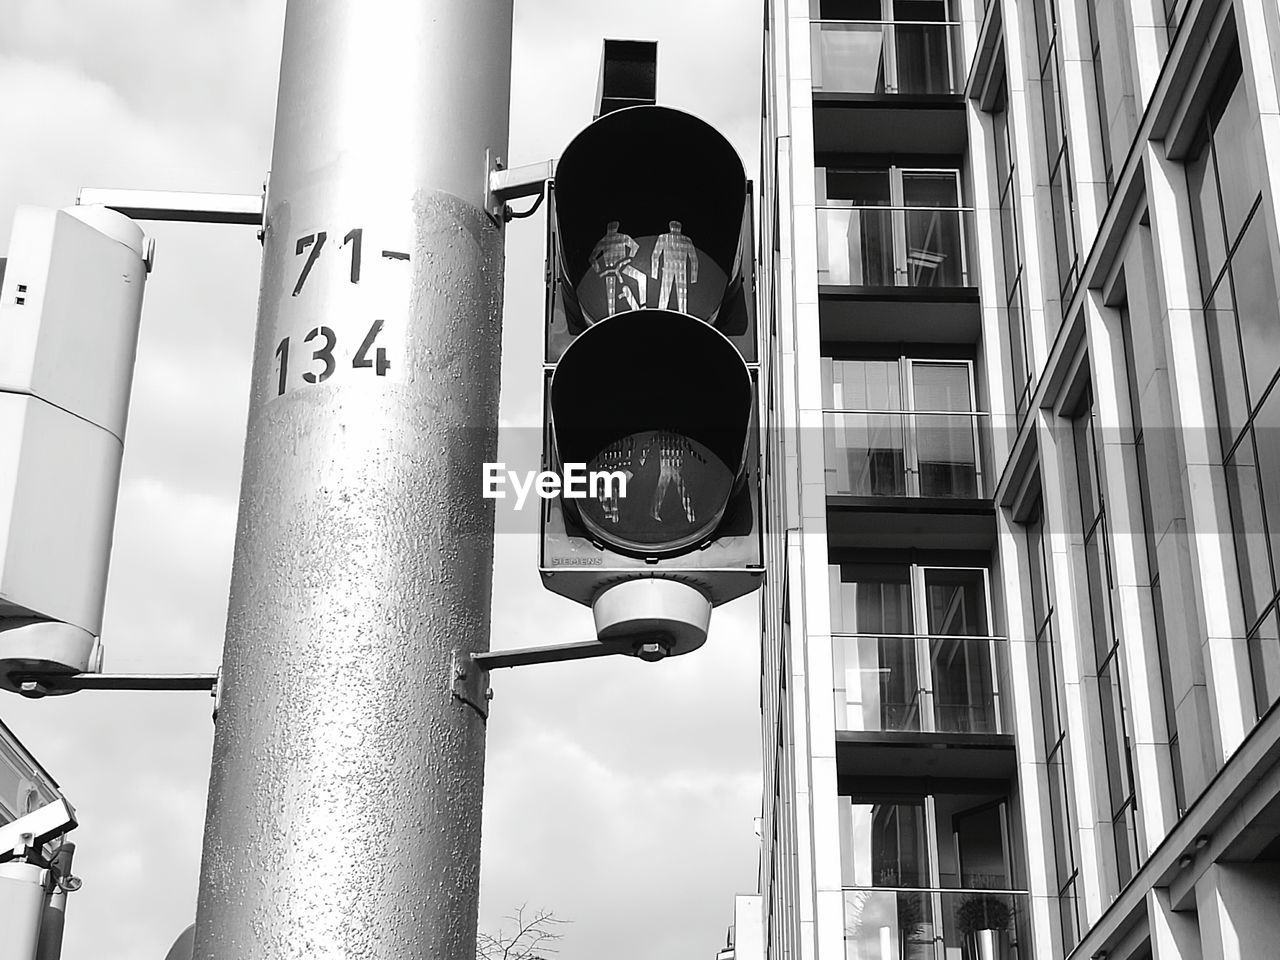
[[[512,0],[289,0],[196,960],[474,960]]]

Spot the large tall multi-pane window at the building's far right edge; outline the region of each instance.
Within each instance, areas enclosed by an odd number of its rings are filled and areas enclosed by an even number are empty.
[[[1187,165],[1210,369],[1249,636],[1254,707],[1280,695],[1280,306],[1261,191],[1261,147],[1235,51]]]

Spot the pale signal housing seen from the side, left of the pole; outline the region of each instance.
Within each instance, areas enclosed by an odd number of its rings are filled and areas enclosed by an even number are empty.
[[[105,207],[15,211],[0,273],[0,686],[96,669],[150,247]]]

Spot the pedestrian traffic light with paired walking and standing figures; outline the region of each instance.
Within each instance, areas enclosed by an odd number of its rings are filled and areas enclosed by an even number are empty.
[[[548,589],[602,640],[686,653],[763,576],[751,198],[733,147],[663,106],[608,113],[548,188]]]

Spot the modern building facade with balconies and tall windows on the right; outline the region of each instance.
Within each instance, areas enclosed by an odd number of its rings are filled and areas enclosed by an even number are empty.
[[[1280,956],[1276,0],[764,6],[764,956]]]

